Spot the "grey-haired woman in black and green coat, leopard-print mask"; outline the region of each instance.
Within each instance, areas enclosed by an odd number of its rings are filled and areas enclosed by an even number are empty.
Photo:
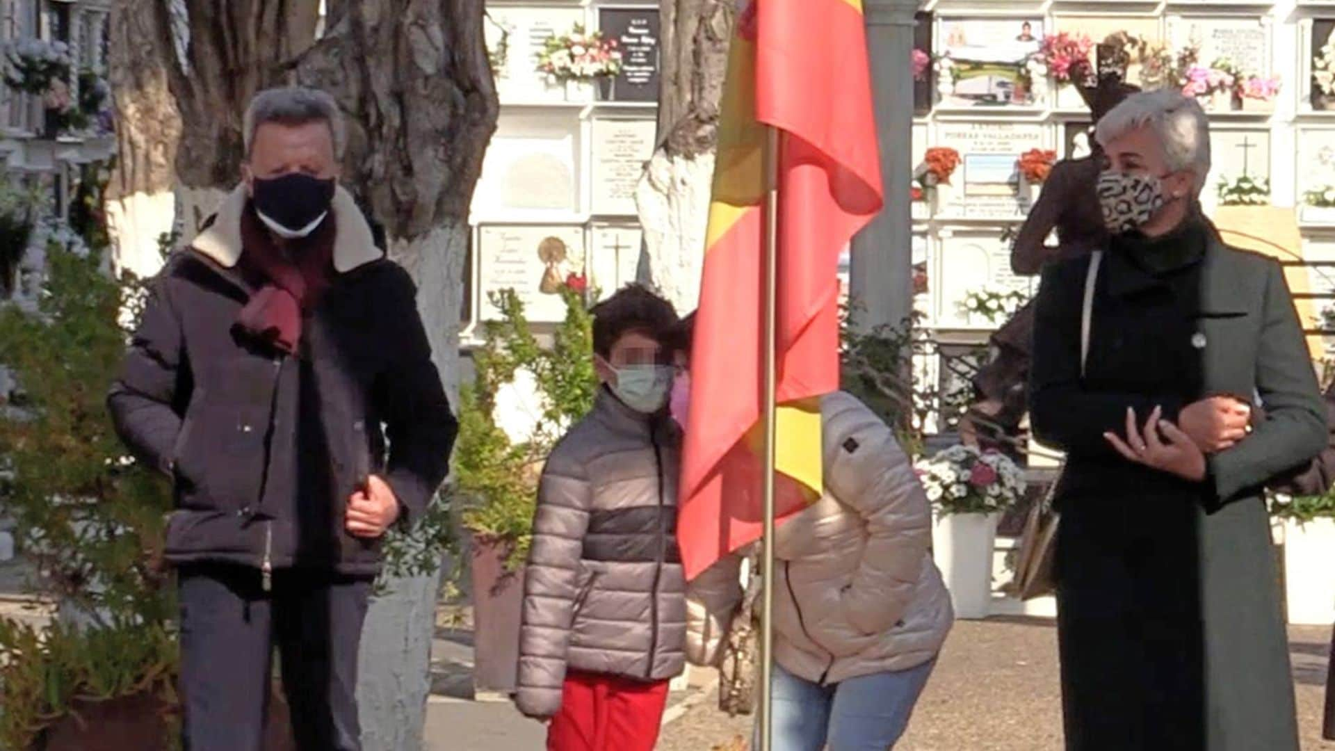
[[[1067,748],[1296,751],[1262,486],[1327,430],[1292,298],[1200,212],[1195,100],[1132,95],[1096,138],[1111,237],[1044,270],[1031,373],[1033,432],[1067,453]]]

